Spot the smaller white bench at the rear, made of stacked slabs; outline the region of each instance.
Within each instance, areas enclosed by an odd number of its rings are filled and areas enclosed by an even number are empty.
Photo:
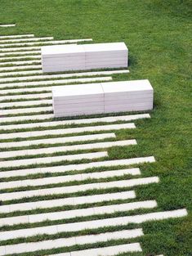
[[[42,72],[127,67],[125,43],[93,43],[42,47]]]

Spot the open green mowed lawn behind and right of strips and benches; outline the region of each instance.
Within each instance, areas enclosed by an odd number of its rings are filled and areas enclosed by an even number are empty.
[[[191,254],[191,85],[190,1],[150,0],[0,0],[0,35],[35,34],[59,39],[93,38],[125,42],[130,74],[114,79],[149,79],[154,87],[151,119],[135,122],[135,130],[116,132],[118,139],[136,138],[138,146],[109,150],[110,159],[154,155],[141,166],[159,184],[136,187],[142,200],[157,200],[159,210],[186,208],[188,216],[141,225],[143,253],[132,256]],[[115,243],[114,243],[115,244]],[[105,245],[110,245],[105,243]],[[84,249],[84,248],[83,248]],[[51,251],[49,251],[50,253]],[[27,254],[26,254],[27,255]],[[129,254],[122,254],[123,256]]]

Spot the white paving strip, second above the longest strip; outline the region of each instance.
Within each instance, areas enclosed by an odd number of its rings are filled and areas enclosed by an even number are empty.
[[[97,194],[86,196],[74,196],[55,200],[43,200],[21,204],[7,204],[0,206],[0,213],[13,213],[17,211],[29,211],[33,209],[48,209],[53,207],[62,207],[65,205],[94,204],[107,202],[110,200],[128,200],[135,199],[135,191],[125,191],[110,194]]]

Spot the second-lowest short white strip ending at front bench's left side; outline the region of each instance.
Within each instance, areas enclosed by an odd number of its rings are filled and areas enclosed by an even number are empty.
[[[0,115],[16,115],[16,114],[25,115],[26,113],[40,113],[40,112],[47,112],[47,111],[53,111],[52,106],[0,110]]]

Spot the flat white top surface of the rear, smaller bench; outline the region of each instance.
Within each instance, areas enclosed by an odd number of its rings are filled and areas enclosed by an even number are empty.
[[[86,54],[86,52],[127,51],[125,43],[92,43],[52,45],[41,48],[42,56],[57,56],[65,54]]]

